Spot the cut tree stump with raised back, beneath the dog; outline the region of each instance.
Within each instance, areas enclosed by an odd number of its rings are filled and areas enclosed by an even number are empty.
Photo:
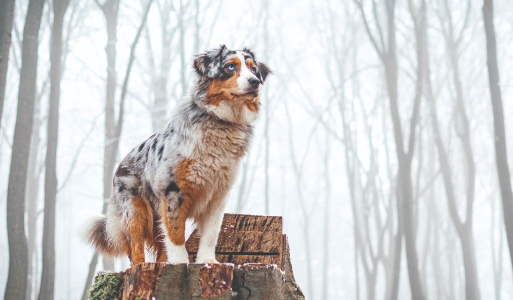
[[[215,248],[222,264],[144,263],[125,272],[100,272],[89,298],[304,299],[294,280],[282,227],[281,217],[226,213]],[[191,262],[199,237],[195,230],[185,243]]]

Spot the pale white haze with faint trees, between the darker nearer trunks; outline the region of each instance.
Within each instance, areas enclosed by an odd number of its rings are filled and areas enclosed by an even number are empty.
[[[373,5],[372,0],[362,0],[360,10],[358,2],[349,0],[153,0],[134,52],[114,165],[159,130],[188,93],[194,78],[193,54],[220,44],[230,49],[251,47],[274,75],[268,77],[261,91],[262,113],[255,124],[255,138],[226,211],[283,216],[294,275],[308,299],[389,298],[394,273],[399,274],[398,298],[411,298],[404,239],[400,272],[393,271],[394,253],[398,253],[394,247],[396,202],[403,181],[398,176],[390,91],[385,80],[390,76],[385,75],[384,61],[369,39],[362,17],[363,11],[377,47],[384,45],[386,49],[386,2],[374,0]],[[2,220],[6,218],[27,5],[26,0],[16,1],[0,124]],[[148,0],[120,1],[114,118],[119,114],[130,46],[147,5]],[[506,141],[511,149],[513,2],[496,0],[494,5]],[[425,4],[427,53],[422,53],[421,61],[428,57],[424,67],[429,67],[430,80],[428,83],[424,68],[424,77],[417,84],[419,44],[412,12],[418,16],[422,2],[395,3],[397,103],[405,149],[414,103],[419,103],[411,156],[412,197],[408,200],[415,228],[409,229],[417,235],[420,283],[429,299],[465,298],[461,237],[473,237],[467,243],[473,246],[481,298],[513,298],[482,6],[482,1],[473,0]],[[420,24],[419,18],[417,22]],[[26,213],[26,226],[35,226],[28,237],[29,245],[33,244],[30,298],[37,297],[42,272],[52,24],[49,0],[39,36],[32,143],[26,145],[30,147],[26,201],[27,207],[33,208]],[[93,251],[81,243],[77,231],[84,219],[102,211],[104,202],[106,44],[105,16],[100,7],[94,1],[70,0],[63,25],[56,160],[56,299],[82,296]],[[464,222],[467,211],[472,215],[472,226],[467,226],[470,229],[461,237],[451,220],[455,215],[451,217],[448,208],[437,137],[447,155],[456,217]],[[508,155],[511,166],[511,150]],[[473,191],[469,192],[469,186]],[[7,226],[0,222],[2,294],[8,262]],[[100,258],[96,270],[103,269],[103,263]],[[124,259],[114,266],[123,270],[128,265]]]

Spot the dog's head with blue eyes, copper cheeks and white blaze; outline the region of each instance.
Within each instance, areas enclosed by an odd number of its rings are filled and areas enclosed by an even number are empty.
[[[271,73],[244,48],[229,50],[222,45],[197,55],[193,68],[199,77],[196,102],[216,117],[249,124],[258,116],[259,87]]]

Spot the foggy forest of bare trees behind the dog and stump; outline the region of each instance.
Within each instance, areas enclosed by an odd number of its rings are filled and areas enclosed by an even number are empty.
[[[511,0],[1,0],[0,34],[6,299],[130,266],[81,224],[221,44],[273,71],[225,211],[283,217],[307,299],[513,298]]]

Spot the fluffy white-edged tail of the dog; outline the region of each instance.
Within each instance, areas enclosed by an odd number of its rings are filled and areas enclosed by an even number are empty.
[[[96,251],[106,256],[121,256],[126,254],[125,247],[123,247],[125,245],[120,245],[118,241],[115,241],[117,239],[113,236],[113,232],[109,232],[107,217],[105,215],[89,218],[82,228],[82,239],[87,244],[92,245]]]

